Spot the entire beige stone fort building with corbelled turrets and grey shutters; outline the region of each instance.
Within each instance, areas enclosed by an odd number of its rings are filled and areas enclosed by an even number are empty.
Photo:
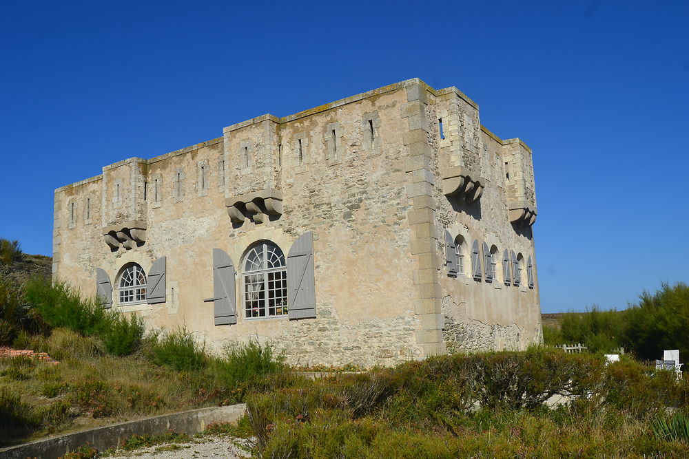
[[[291,363],[541,341],[531,149],[419,79],[55,191],[53,273],[150,328]]]

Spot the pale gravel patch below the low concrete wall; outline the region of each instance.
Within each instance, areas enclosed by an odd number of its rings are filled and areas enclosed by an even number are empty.
[[[192,442],[171,442],[163,445],[155,445],[134,451],[116,451],[116,456],[108,456],[112,459],[140,458],[140,459],[193,459],[193,458],[250,458],[251,455],[240,448],[246,445],[243,438],[226,436],[204,436],[194,438]]]

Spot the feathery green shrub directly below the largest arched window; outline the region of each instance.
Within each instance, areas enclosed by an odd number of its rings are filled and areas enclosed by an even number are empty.
[[[262,344],[250,339],[248,343],[229,345],[222,358],[214,359],[213,366],[223,385],[237,387],[282,371],[284,360],[284,356],[276,354],[270,343]]]

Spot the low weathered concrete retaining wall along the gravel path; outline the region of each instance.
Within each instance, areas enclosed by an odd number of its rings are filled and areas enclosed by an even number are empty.
[[[1,458],[54,459],[81,445],[90,443],[99,451],[117,447],[132,435],[161,435],[172,429],[178,434],[196,434],[211,423],[236,423],[246,405],[190,409],[37,440],[16,447],[0,449]]]

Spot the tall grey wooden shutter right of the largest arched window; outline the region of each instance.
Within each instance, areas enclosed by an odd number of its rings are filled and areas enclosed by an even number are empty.
[[[287,255],[287,316],[316,317],[316,275],[313,269],[313,233],[304,233]]]

